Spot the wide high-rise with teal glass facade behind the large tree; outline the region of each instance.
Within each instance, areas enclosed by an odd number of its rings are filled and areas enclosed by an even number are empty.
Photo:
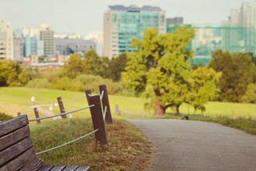
[[[109,7],[104,14],[104,57],[135,51],[130,47],[131,39],[142,39],[145,29],[157,28],[159,33],[166,33],[166,12],[158,6]]]

